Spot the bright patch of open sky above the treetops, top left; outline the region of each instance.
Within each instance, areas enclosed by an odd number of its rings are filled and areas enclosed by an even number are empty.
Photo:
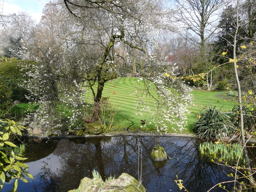
[[[39,23],[44,5],[50,0],[0,0],[0,11],[3,14],[26,11]]]

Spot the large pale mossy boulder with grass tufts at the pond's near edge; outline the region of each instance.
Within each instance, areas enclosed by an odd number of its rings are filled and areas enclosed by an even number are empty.
[[[78,189],[68,192],[93,192],[92,179],[84,177]],[[134,177],[127,173],[122,173],[117,179],[112,180],[98,192],[145,192],[145,188]]]

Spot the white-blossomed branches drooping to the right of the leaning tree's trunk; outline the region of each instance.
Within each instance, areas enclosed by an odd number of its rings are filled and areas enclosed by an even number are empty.
[[[183,131],[187,123],[186,113],[189,113],[188,107],[192,104],[193,97],[191,89],[175,78],[174,70],[173,67],[169,73],[156,73],[156,76],[145,77],[143,81],[147,89],[143,90],[141,95],[137,93],[137,112],[141,116],[146,112],[147,117],[144,119],[148,119],[147,124],[154,123],[157,132],[168,131],[169,125],[177,125],[177,128],[173,129]],[[149,96],[154,99],[154,109],[144,102],[144,98]]]

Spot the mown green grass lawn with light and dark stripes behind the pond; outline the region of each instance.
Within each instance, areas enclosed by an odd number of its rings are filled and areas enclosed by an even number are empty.
[[[119,106],[119,111],[116,113],[113,131],[154,131],[154,125],[146,125],[141,127],[141,119],[145,119],[137,114],[136,104],[138,98],[135,94],[136,90],[143,89],[143,81],[139,78],[118,78],[115,81],[108,81],[105,84],[103,97],[110,97],[112,105]],[[194,90],[192,91],[194,95],[194,105],[189,108],[189,113],[187,115],[188,126],[195,122],[196,115],[205,107],[209,105],[217,105],[217,108],[221,110],[230,110],[235,105],[235,102],[224,102],[222,99],[215,97],[215,94],[221,91],[207,91],[207,90]],[[222,91],[223,92],[223,91]],[[140,94],[140,90],[138,92]],[[93,96],[89,92],[85,96],[86,102],[92,102]],[[151,98],[147,99],[150,106],[154,105]],[[15,106],[16,110],[27,109],[28,104],[19,104]],[[146,112],[143,113],[146,116]],[[169,132],[173,132],[172,128],[169,128]],[[185,130],[183,133],[189,133]]]

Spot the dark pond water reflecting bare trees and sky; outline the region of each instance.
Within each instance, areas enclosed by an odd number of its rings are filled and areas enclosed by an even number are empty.
[[[232,180],[232,170],[199,158],[199,140],[187,137],[109,137],[79,140],[26,139],[25,162],[34,179],[19,180],[18,192],[67,192],[78,188],[93,169],[102,177],[119,177],[123,172],[138,180],[138,146],[142,149],[142,183],[148,192],[178,192],[174,180],[183,180],[189,192],[207,192],[216,183]],[[153,165],[149,155],[159,142],[172,160]],[[14,180],[2,192],[12,189]],[[226,185],[229,190],[231,186]],[[221,188],[211,190],[221,192]]]

